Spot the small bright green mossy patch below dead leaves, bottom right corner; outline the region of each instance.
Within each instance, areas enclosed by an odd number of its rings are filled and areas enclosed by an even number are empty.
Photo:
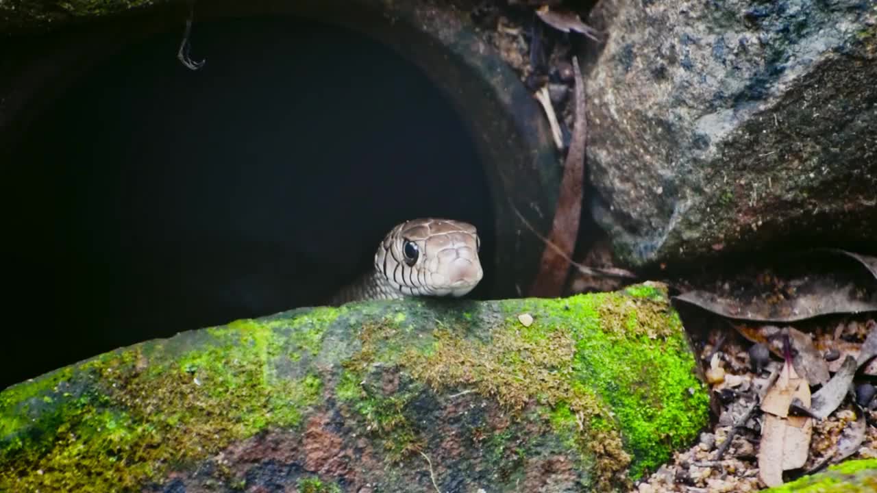
[[[865,493],[877,491],[877,459],[845,461],[823,473],[808,475],[766,493]]]

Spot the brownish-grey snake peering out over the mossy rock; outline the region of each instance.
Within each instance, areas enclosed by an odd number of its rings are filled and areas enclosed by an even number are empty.
[[[390,230],[374,267],[339,289],[329,304],[408,297],[463,297],[481,281],[481,239],[474,225],[417,218]]]

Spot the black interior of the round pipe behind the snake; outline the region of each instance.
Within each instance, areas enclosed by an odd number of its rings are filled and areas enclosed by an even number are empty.
[[[126,47],[4,163],[0,388],[144,339],[318,304],[422,216],[479,228],[488,185],[426,76],[312,20],[196,25]],[[487,297],[493,265],[473,297]]]

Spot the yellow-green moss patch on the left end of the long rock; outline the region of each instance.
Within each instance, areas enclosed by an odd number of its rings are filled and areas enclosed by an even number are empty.
[[[314,317],[325,321],[332,313]],[[202,338],[198,349],[175,358],[164,357],[159,342],[4,391],[0,460],[12,467],[0,471],[0,490],[133,489],[267,426],[298,426],[304,409],[317,404],[322,381],[275,374],[275,362],[290,351],[278,332],[291,331],[301,347],[318,350],[314,317],[240,320],[193,332]],[[21,403],[36,402],[52,423],[25,428],[7,419]]]

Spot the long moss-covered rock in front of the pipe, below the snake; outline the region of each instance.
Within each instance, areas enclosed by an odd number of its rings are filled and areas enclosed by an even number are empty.
[[[289,311],[5,389],[0,490],[624,489],[706,425],[695,368],[657,285]]]

